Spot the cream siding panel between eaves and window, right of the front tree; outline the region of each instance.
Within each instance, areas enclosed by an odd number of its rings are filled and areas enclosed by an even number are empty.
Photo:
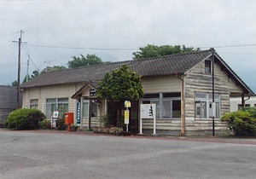
[[[145,94],[180,92],[181,80],[175,76],[143,78],[143,90]]]

